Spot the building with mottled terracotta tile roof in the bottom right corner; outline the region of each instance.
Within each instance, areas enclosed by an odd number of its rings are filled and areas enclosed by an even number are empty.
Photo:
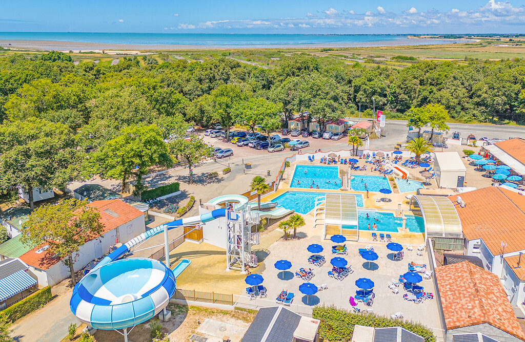
[[[482,333],[499,341],[525,340],[497,275],[467,261],[438,267],[435,272],[446,341],[465,333]]]

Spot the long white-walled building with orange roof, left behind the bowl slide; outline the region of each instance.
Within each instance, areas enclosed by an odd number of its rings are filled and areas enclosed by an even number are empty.
[[[144,213],[120,199],[93,201],[89,204],[100,212],[104,230],[99,237],[87,241],[75,254],[75,271],[107,254],[117,242],[125,243],[145,231]],[[48,245],[39,245],[20,255],[20,260],[38,277],[40,286],[53,286],[69,276],[69,267],[47,252]]]

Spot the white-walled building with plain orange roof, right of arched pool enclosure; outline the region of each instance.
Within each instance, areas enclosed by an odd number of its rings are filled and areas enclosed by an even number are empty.
[[[501,278],[512,305],[525,301],[525,196],[506,187],[486,187],[448,198],[454,203],[466,239],[466,255]],[[525,309],[525,307],[523,307]]]

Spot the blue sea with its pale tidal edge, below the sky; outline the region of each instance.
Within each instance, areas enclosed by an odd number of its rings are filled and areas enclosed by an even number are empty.
[[[134,46],[199,46],[199,47],[297,47],[297,46],[388,46],[450,44],[467,40],[413,39],[407,35],[281,35],[281,34],[171,34],[171,33],[53,33],[0,32],[0,44],[20,41],[76,42],[89,44]],[[47,41],[44,43],[44,41]],[[37,44],[39,45],[39,44]],[[103,47],[101,45],[101,47]]]

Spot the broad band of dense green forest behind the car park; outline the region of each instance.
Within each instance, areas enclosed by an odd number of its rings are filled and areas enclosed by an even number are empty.
[[[150,166],[191,166],[210,154],[198,136],[182,138],[189,124],[218,122],[227,134],[242,123],[269,133],[297,112],[321,126],[356,115],[359,105],[371,115],[373,100],[390,119],[413,118],[411,108],[433,103],[458,122],[523,123],[506,114],[525,113],[525,61],[518,59],[411,60],[397,69],[310,54],[282,55],[267,68],[226,56],[159,58],[101,66],[75,65],[57,51],[1,57],[0,189],[61,188],[100,174],[124,188],[133,180],[140,193]]]

